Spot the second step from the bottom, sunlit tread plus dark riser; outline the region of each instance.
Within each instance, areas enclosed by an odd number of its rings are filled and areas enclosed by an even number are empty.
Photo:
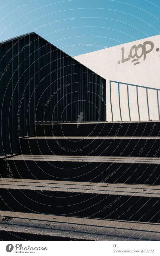
[[[0,179],[1,210],[158,223],[159,200],[156,185]]]

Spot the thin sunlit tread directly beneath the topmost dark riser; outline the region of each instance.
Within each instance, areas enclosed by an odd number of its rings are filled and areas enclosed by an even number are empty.
[[[71,136],[71,137],[63,137],[63,136],[32,136],[32,137],[24,137],[23,139],[29,139],[29,140],[32,140],[32,139],[137,139],[137,140],[155,140],[155,139],[158,139],[160,140],[160,137],[157,137],[157,136],[152,136],[152,137],[146,137],[146,136],[142,136],[142,137],[137,137],[137,136],[130,136],[130,137],[127,137],[127,136]]]

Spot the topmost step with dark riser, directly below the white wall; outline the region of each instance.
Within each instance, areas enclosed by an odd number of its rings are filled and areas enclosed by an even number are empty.
[[[51,123],[36,122],[36,136],[159,136],[160,121]]]

